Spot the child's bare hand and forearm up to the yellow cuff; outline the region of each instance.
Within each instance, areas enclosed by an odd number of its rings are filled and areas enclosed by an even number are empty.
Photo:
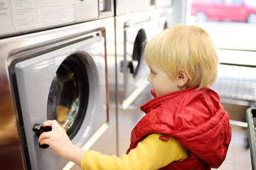
[[[81,166],[80,162],[85,154],[85,150],[73,145],[65,130],[56,120],[48,120],[43,125],[51,126],[52,130],[50,132],[43,132],[38,138],[38,142],[41,145],[49,145],[58,157],[63,157]]]

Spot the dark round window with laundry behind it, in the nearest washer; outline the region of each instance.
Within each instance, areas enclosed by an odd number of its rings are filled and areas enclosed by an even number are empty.
[[[82,125],[89,97],[84,64],[76,55],[68,57],[53,77],[48,95],[47,119],[57,120],[73,138]]]

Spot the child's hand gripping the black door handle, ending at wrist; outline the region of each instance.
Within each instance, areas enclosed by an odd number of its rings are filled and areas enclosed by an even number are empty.
[[[69,150],[74,146],[65,130],[56,120],[47,120],[43,125],[51,126],[52,130],[43,132],[38,138],[38,142],[40,142],[41,145],[49,145],[58,157],[65,157]]]

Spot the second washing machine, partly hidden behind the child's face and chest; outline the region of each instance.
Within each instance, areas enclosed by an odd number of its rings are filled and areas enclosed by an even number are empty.
[[[118,154],[121,156],[129,147],[132,128],[144,116],[140,106],[152,98],[151,85],[147,81],[149,68],[144,60],[144,47],[158,32],[158,18],[152,8],[120,14],[114,18],[117,50],[117,144]]]

